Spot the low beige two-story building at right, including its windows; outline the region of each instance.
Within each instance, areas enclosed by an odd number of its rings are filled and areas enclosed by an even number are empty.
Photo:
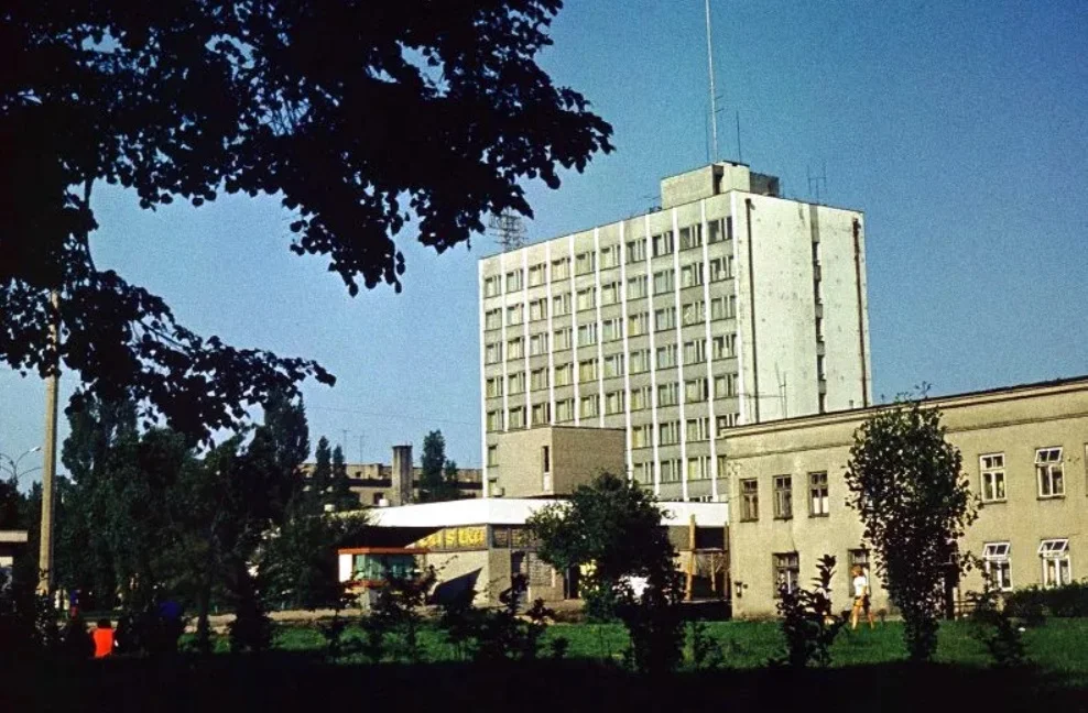
[[[947,439],[982,508],[959,542],[984,562],[956,583],[1005,591],[1088,577],[1088,377],[934,398]],[[848,608],[850,569],[870,570],[872,606],[888,608],[862,525],[847,506],[850,447],[881,407],[729,429],[722,439],[729,498],[733,614],[775,613],[779,583],[808,586],[834,555],[833,596]]]

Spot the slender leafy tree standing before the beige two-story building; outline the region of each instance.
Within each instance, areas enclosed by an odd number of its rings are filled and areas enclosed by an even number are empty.
[[[962,475],[959,450],[945,440],[940,413],[918,401],[880,410],[855,434],[846,473],[848,505],[878,553],[877,572],[903,612],[913,660],[937,648],[946,577],[958,577],[966,555],[956,540],[975,522],[977,498]]]

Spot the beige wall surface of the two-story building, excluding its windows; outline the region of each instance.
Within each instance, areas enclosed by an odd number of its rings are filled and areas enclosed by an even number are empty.
[[[979,457],[1005,457],[1004,502],[987,503],[978,522],[960,542],[961,550],[981,555],[986,542],[1011,542],[1015,588],[1041,583],[1040,542],[1068,538],[1073,579],[1088,575],[1088,512],[1085,511],[1088,449],[1088,380],[1020,387],[935,399],[943,412],[949,442],[960,449],[964,473],[979,492]],[[817,559],[838,559],[834,596],[837,607],[850,603],[848,551],[861,547],[858,515],[847,508],[844,480],[853,432],[872,409],[798,418],[736,429],[727,441],[730,473],[731,575],[742,593],[733,600],[738,616],[774,613],[772,555],[797,552],[801,581],[815,575]],[[1065,496],[1038,497],[1034,468],[1038,448],[1062,447]],[[829,514],[812,517],[807,475],[828,473]],[[793,517],[774,519],[772,481],[793,479]],[[742,522],[740,481],[757,479],[759,519]],[[980,574],[969,573],[960,591],[981,589]],[[873,606],[886,607],[886,594],[873,578]]]

